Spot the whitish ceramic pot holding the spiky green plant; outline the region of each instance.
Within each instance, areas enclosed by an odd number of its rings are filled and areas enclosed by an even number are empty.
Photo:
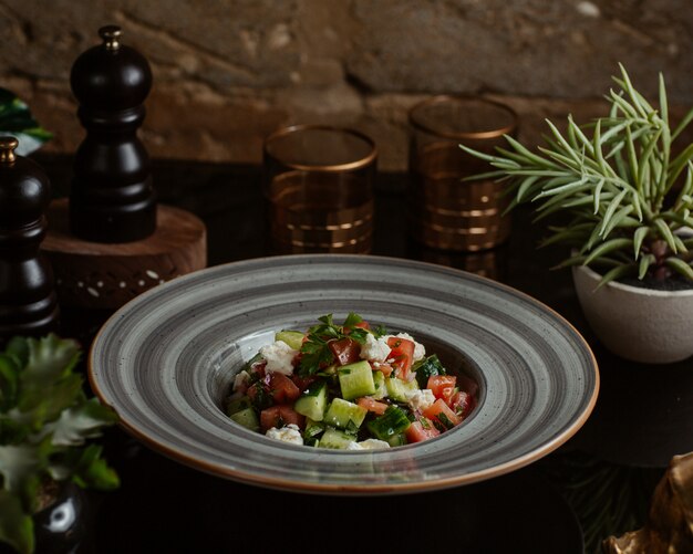
[[[611,282],[589,268],[572,269],[578,299],[590,327],[614,354],[645,364],[693,355],[693,290],[655,291]]]

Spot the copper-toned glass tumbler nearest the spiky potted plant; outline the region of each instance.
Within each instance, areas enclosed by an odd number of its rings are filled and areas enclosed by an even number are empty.
[[[484,98],[435,96],[410,111],[410,123],[412,238],[432,249],[457,252],[501,244],[510,234],[510,218],[503,217],[509,201],[503,184],[463,180],[493,168],[459,144],[493,153],[505,144],[504,135],[516,134],[516,113]]]

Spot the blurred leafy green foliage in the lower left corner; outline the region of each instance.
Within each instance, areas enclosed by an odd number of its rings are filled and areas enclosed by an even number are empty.
[[[21,553],[33,552],[34,515],[61,484],[118,485],[89,442],[115,415],[83,391],[73,373],[80,354],[76,342],[53,334],[14,337],[0,352],[0,542]]]

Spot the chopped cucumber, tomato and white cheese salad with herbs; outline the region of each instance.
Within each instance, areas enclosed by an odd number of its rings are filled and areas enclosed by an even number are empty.
[[[379,449],[437,437],[474,409],[476,384],[449,375],[406,333],[332,314],[280,331],[236,375],[227,414],[268,437],[320,448]]]

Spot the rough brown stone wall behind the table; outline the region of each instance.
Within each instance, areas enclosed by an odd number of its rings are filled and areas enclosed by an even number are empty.
[[[259,163],[291,123],[350,125],[406,167],[407,109],[437,93],[513,106],[520,137],[544,118],[604,113],[618,62],[674,114],[693,105],[692,0],[0,0],[0,86],[72,153],[84,134],[69,75],[97,29],[152,64],[142,137],[153,157]]]

